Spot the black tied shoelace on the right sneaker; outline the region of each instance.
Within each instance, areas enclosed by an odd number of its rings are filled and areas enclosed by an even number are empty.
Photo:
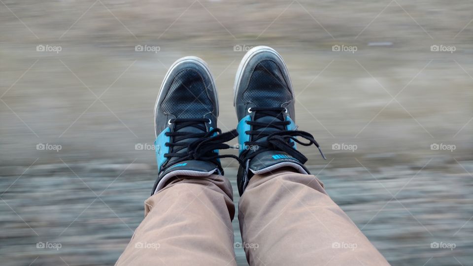
[[[287,154],[291,155],[292,157],[296,158],[299,162],[305,163],[307,162],[307,157],[304,156],[301,152],[296,150],[294,147],[294,142],[297,142],[304,146],[310,146],[314,144],[322,155],[322,158],[325,158],[325,155],[322,153],[320,149],[319,143],[314,139],[314,137],[307,132],[304,131],[296,131],[296,130],[286,130],[286,126],[289,125],[291,122],[286,121],[284,119],[283,113],[286,111],[284,107],[251,107],[251,112],[255,112],[255,116],[253,118],[254,121],[246,121],[246,123],[252,126],[252,130],[246,131],[246,134],[252,135],[252,141],[245,142],[245,146],[254,146],[258,147],[255,152],[249,153],[249,150],[245,150],[241,155],[243,161],[251,159],[256,155],[265,152],[265,151],[283,151]],[[264,123],[256,121],[259,118],[264,116],[272,117],[272,122]],[[271,131],[268,129],[275,129],[276,131]],[[300,136],[308,142],[302,142],[298,140],[296,137]],[[258,141],[259,139],[267,137],[264,141]]]

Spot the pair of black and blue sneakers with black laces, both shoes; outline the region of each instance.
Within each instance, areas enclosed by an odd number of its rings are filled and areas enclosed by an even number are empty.
[[[307,158],[296,149],[296,142],[314,144],[324,156],[310,133],[296,130],[294,97],[281,56],[270,47],[254,47],[236,72],[234,106],[238,125],[236,130],[222,133],[217,128],[217,90],[207,64],[198,57],[177,60],[164,78],[155,106],[159,175],[152,194],[176,176],[223,175],[220,158],[225,157],[240,164],[240,195],[255,174],[280,167],[308,174],[304,166]],[[230,148],[225,142],[236,136],[239,156],[219,155],[218,150]]]

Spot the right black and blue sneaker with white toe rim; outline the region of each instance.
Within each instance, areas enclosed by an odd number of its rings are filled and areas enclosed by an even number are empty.
[[[272,48],[249,50],[236,72],[234,105],[238,117],[239,157],[238,192],[243,194],[250,178],[280,167],[293,167],[308,174],[307,158],[296,150],[319,144],[304,131],[296,131],[294,91],[286,65]],[[305,138],[301,142],[296,136]],[[322,151],[320,154],[325,159]]]

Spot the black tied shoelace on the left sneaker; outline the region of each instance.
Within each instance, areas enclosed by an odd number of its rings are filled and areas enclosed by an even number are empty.
[[[167,132],[166,136],[171,137],[171,142],[167,142],[166,146],[172,149],[172,153],[166,153],[164,157],[178,157],[178,160],[172,162],[177,164],[187,160],[209,161],[221,167],[219,158],[234,158],[241,162],[235,155],[219,155],[215,150],[229,149],[227,141],[235,138],[238,133],[236,130],[222,133],[218,128],[214,128],[206,132],[205,123],[208,122],[206,118],[177,118],[171,119],[169,123],[174,123],[174,130]],[[202,131],[202,133],[191,133],[180,131],[186,127],[194,127]],[[193,141],[185,141],[186,139],[197,138]],[[179,152],[187,147],[186,152]]]

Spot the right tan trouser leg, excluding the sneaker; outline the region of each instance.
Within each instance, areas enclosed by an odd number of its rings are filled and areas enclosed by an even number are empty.
[[[250,265],[389,265],[313,175],[254,175],[238,219]]]

